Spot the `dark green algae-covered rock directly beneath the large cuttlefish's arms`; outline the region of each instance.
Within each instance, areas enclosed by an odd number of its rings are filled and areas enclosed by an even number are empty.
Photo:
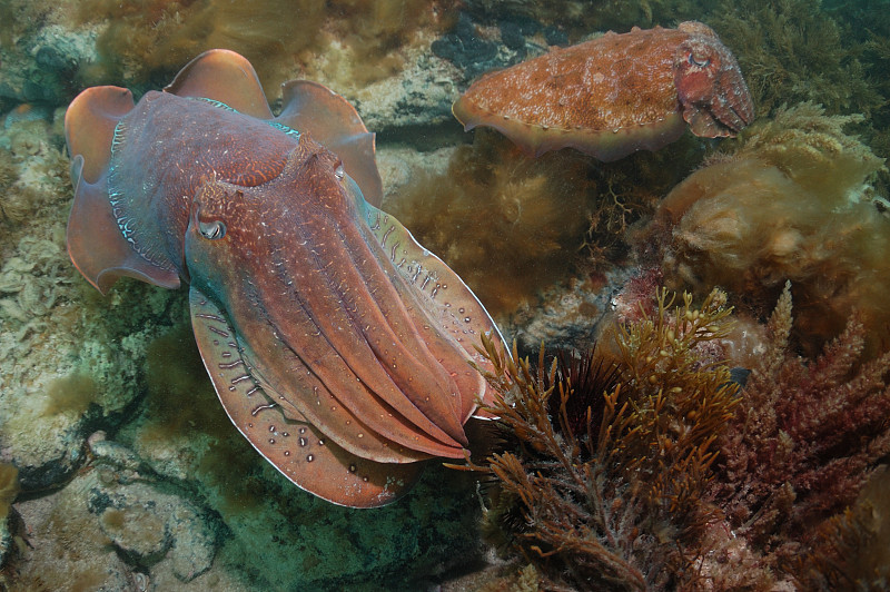
[[[418,578],[447,573],[478,553],[478,504],[467,475],[433,465],[389,506],[329,504],[295,487],[231,425],[189,326],[159,337],[147,352],[144,406],[116,443],[96,445],[123,466],[194,492],[192,500],[216,516],[225,535],[212,569],[196,583],[227,573],[246,574],[248,588],[339,590],[379,581],[412,589]],[[162,544],[160,533],[155,545]]]

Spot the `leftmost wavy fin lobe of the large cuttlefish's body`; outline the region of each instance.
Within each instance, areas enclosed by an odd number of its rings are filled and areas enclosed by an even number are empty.
[[[179,275],[149,263],[118,226],[108,194],[115,129],[134,108],[132,95],[118,87],[93,87],[71,102],[65,136],[71,154],[75,204],[68,219],[68,254],[83,277],[106,294],[120,276],[166,288],[179,287]]]

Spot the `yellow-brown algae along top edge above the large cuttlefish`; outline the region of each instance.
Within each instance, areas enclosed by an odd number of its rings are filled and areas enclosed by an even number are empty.
[[[254,62],[270,96],[295,65],[312,68],[329,43],[349,48],[340,60],[343,90],[392,75],[402,63],[397,50],[424,28],[444,26],[449,0],[139,0],[81,2],[81,22],[107,21],[97,39],[100,61],[81,71],[88,83],[113,80],[140,86],[165,82],[198,53],[226,48]]]

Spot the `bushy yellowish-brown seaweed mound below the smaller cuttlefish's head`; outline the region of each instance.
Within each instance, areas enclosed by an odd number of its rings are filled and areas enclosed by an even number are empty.
[[[883,165],[844,134],[859,119],[813,103],[782,108],[743,132],[734,151],[705,161],[646,230],[665,282],[700,293],[720,285],[760,316],[790,279],[795,334],[811,355],[851,310],[867,326],[888,326],[890,219],[869,186]],[[869,348],[879,341],[872,332]]]

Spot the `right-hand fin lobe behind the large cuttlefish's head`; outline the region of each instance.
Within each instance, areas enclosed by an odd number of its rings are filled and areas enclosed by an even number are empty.
[[[362,188],[365,199],[379,206],[383,181],[377,171],[374,134],[367,130],[355,107],[327,87],[308,80],[285,82],[281,97],[284,107],[275,120],[308,132],[337,155],[343,168]]]

